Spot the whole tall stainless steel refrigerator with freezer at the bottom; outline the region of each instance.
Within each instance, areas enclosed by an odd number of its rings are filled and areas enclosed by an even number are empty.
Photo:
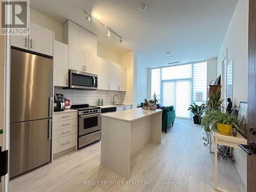
[[[51,160],[52,58],[11,49],[10,177]]]

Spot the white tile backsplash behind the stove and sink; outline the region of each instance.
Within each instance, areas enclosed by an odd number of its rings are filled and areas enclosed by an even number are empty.
[[[85,104],[98,105],[98,99],[103,99],[103,105],[113,104],[114,95],[119,96],[115,98],[117,103],[132,104],[133,92],[132,91],[107,91],[107,90],[73,90],[62,89],[59,87],[54,88],[54,93],[62,93],[65,97],[71,100],[72,104]]]

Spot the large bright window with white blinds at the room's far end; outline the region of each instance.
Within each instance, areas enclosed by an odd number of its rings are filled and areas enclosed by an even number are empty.
[[[206,102],[206,71],[206,61],[152,69],[152,95],[163,106],[173,105],[177,117],[190,118],[189,105]]]

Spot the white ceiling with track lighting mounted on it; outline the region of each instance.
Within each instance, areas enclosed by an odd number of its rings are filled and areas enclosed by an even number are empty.
[[[187,63],[217,57],[237,0],[31,0],[32,9],[58,23],[67,19],[98,36],[113,51],[134,50],[146,67],[168,62]],[[97,22],[86,20],[83,9],[119,33],[108,37]],[[183,53],[185,51],[185,53]],[[174,58],[168,58],[166,52]]]

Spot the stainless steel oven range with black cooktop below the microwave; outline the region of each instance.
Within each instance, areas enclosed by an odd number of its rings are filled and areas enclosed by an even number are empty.
[[[78,110],[77,148],[100,140],[101,109],[89,104],[71,105],[71,109]]]

